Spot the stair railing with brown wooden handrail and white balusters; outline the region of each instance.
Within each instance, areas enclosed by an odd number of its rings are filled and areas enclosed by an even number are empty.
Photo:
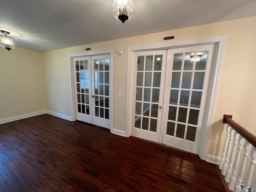
[[[256,136],[232,120],[231,115],[224,115],[223,123],[227,124],[226,139],[219,168],[225,176],[225,181],[228,182],[228,188],[234,192],[250,192],[252,189],[256,192],[256,181],[252,181],[256,164]],[[244,154],[239,167],[243,148]],[[246,169],[248,156],[250,156],[250,165]]]

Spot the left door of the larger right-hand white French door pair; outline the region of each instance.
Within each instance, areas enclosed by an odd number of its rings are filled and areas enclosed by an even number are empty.
[[[132,135],[160,141],[166,50],[135,53],[136,95]]]

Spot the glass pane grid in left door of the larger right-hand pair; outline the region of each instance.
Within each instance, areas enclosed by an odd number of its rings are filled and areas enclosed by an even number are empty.
[[[143,130],[156,132],[162,55],[138,56],[137,63],[136,84],[138,86],[136,86],[134,126],[136,127],[136,125],[141,124],[140,127]],[[154,69],[152,66],[154,66]],[[142,79],[142,84],[140,79]]]

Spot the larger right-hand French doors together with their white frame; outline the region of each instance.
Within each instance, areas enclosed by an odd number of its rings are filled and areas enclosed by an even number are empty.
[[[206,160],[225,44],[219,36],[129,47],[126,136]]]

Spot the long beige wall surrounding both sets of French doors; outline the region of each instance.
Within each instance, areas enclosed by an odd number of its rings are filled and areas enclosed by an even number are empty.
[[[165,36],[172,35],[175,36],[172,41],[228,36],[212,137],[209,140],[209,154],[221,156],[224,140],[224,125],[221,123],[223,114],[232,114],[234,120],[256,134],[256,64],[253,62],[256,53],[256,17],[44,52],[46,108],[71,116],[68,54],[84,52],[85,48],[91,48],[91,51],[114,48],[114,128],[124,130],[128,46],[160,43],[164,42]],[[122,60],[116,54],[119,49],[124,50]],[[57,90],[54,90],[54,85],[58,86]],[[117,90],[123,91],[122,98],[117,97]]]

